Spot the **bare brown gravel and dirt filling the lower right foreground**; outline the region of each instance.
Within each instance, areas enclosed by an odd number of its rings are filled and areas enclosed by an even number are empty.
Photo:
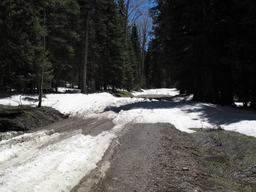
[[[256,191],[256,168],[242,172],[256,162],[254,137],[218,129],[188,134],[171,124],[133,124],[118,142],[110,168],[92,192]],[[88,176],[98,177],[97,170]]]

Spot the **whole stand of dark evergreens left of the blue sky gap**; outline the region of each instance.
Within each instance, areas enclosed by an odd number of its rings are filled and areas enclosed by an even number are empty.
[[[81,88],[83,76],[87,89],[134,88],[138,32],[134,27],[124,40],[121,7],[124,1],[116,0],[1,1],[0,92],[36,92],[41,85],[44,92],[57,92],[67,83]]]

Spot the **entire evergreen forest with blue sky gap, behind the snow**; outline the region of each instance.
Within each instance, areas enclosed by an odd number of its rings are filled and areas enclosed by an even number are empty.
[[[0,37],[0,92],[38,107],[68,82],[256,109],[255,0],[1,0]]]

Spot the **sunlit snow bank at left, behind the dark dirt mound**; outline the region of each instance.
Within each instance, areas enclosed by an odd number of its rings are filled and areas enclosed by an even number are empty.
[[[14,95],[12,98],[0,99],[0,104],[17,106],[20,95]],[[38,95],[31,94],[21,97],[23,105],[36,105]],[[110,93],[94,94],[46,94],[42,100],[43,106],[55,108],[63,114],[87,116],[93,113],[103,112],[108,106],[119,107],[123,104],[142,101],[142,98],[116,98]]]

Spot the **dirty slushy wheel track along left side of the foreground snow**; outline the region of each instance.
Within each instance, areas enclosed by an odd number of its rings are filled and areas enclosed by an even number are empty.
[[[2,164],[0,164],[0,182],[4,181],[3,186],[6,186],[6,184],[12,183],[11,178],[9,180],[8,179],[6,180],[6,177],[5,177],[6,174],[11,175],[10,173],[13,172],[13,170],[14,172],[16,172],[16,174],[18,174],[19,172],[16,171],[17,168],[19,168],[18,170],[20,170],[20,167],[26,167],[27,164],[31,164],[34,160],[38,159],[37,158],[38,154],[40,154],[39,156],[42,156],[44,152],[49,150],[54,150],[54,148],[52,149],[51,146],[54,146],[54,145],[58,146],[59,143],[63,143],[63,141],[65,140],[70,140],[74,136],[76,136],[77,139],[80,140],[80,138],[82,139],[81,133],[83,133],[83,135],[91,134],[96,136],[96,138],[98,137],[100,139],[101,137],[99,137],[98,135],[102,134],[102,132],[108,132],[108,130],[113,128],[113,126],[114,124],[111,122],[111,120],[108,120],[108,119],[98,120],[98,119],[70,118],[68,120],[64,120],[62,122],[57,122],[50,126],[46,126],[44,127],[44,130],[39,130],[40,129],[39,128],[38,130],[34,130],[36,132],[30,131],[30,133],[26,133],[14,138],[10,138],[9,140],[3,140],[0,143],[2,147],[2,151],[10,150],[11,148],[15,148],[15,146],[17,146],[18,148],[20,147],[20,151],[16,152],[16,154],[12,154],[10,158],[6,158],[6,160],[3,161]],[[94,136],[90,136],[88,137],[88,139],[94,139]],[[101,142],[100,140],[99,142]],[[72,144],[72,142],[70,144]],[[78,144],[78,147],[79,145],[80,144]],[[56,150],[58,151],[58,148],[56,148]],[[71,162],[71,164],[72,163],[74,162]],[[76,168],[76,166],[74,166],[74,169],[79,170],[80,168],[79,167]],[[61,174],[66,174],[66,173],[63,172]],[[69,180],[69,178],[67,179]],[[24,188],[24,186],[22,187]],[[58,188],[58,186],[56,186],[56,188]],[[27,189],[27,191],[33,191],[33,190],[36,190],[36,189],[33,189],[33,188]],[[70,191],[70,190],[67,190],[67,191]],[[4,192],[8,190],[5,190],[5,188],[0,186],[0,191]],[[19,191],[19,190],[18,189],[16,190],[15,188],[13,188],[13,191]],[[61,190],[56,189],[55,191],[61,191]]]

